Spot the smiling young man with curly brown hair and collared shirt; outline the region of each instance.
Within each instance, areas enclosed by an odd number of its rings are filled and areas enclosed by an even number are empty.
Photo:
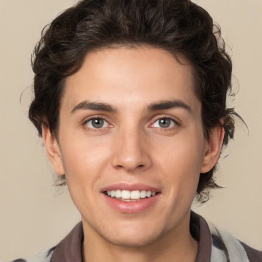
[[[190,211],[217,188],[238,117],[226,107],[231,60],[206,11],[80,1],[43,33],[33,70],[29,117],[82,217],[46,261],[262,260]]]

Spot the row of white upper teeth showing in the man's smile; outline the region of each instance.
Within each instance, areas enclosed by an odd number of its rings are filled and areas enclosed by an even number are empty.
[[[128,200],[139,200],[144,198],[150,198],[154,197],[156,195],[156,192],[146,191],[146,190],[134,190],[134,191],[128,191],[128,190],[109,190],[106,191],[107,195],[111,198],[117,198],[122,199],[124,201]]]

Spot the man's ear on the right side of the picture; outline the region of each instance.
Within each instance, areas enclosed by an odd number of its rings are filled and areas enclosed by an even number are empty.
[[[205,156],[202,161],[202,166],[200,169],[201,173],[208,172],[216,164],[220,156],[220,151],[224,139],[224,128],[223,120],[221,124],[213,127],[209,133],[208,137],[208,150],[205,153]]]

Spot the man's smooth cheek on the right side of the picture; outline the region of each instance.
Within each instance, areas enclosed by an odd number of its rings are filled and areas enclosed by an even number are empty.
[[[190,136],[180,137],[167,144],[168,150],[158,155],[158,163],[169,182],[171,194],[181,194],[183,199],[194,197],[204,157],[203,145],[201,136],[191,136],[191,139]]]

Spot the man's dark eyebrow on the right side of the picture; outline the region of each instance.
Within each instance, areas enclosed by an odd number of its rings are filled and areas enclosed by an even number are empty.
[[[193,111],[189,105],[181,100],[162,100],[156,103],[151,103],[147,106],[147,111],[158,111],[158,110],[168,110],[172,108],[182,108],[186,110],[189,114],[193,114]]]

